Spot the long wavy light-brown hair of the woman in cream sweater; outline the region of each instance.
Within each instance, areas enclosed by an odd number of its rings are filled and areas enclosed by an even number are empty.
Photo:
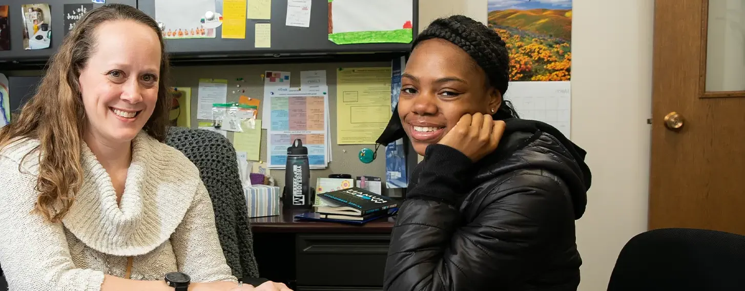
[[[53,223],[62,221],[83,184],[80,150],[84,142],[83,132],[86,131],[86,113],[78,78],[95,52],[96,28],[110,21],[147,25],[158,36],[162,51],[158,100],[143,130],[161,142],[168,132],[171,106],[166,84],[168,54],[158,24],[142,11],[124,4],[105,4],[86,13],[49,60],[48,70],[34,97],[25,103],[18,118],[13,118],[10,124],[0,129],[0,150],[19,138],[39,141],[39,146],[31,151],[39,152],[36,185],[39,196],[34,212]]]

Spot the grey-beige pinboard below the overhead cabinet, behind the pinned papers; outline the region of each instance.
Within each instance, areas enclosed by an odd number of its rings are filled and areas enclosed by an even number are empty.
[[[263,99],[264,80],[261,74],[264,71],[289,71],[291,73],[292,87],[299,86],[300,71],[326,70],[326,82],[329,86],[329,121],[331,129],[329,135],[332,139],[332,162],[329,167],[323,170],[311,170],[311,185],[315,185],[318,177],[328,177],[331,173],[348,173],[352,177],[356,176],[378,176],[385,179],[385,147],[378,149],[377,159],[370,164],[364,164],[358,159],[359,151],[364,147],[374,149],[373,144],[355,144],[355,145],[338,145],[336,142],[337,130],[337,68],[352,67],[388,67],[390,62],[370,62],[370,63],[305,63],[291,65],[200,65],[200,66],[179,66],[172,69],[171,85],[178,89],[191,89],[191,127],[196,128],[197,119],[197,92],[199,89],[200,78],[226,79],[228,80],[228,102],[238,102],[241,95],[247,97]],[[241,80],[242,78],[242,80]],[[240,87],[237,87],[240,85]],[[245,90],[245,92],[243,92]],[[235,91],[235,92],[234,92]],[[261,106],[264,105],[262,100]],[[262,119],[261,109],[259,109],[258,119]],[[232,132],[227,133],[227,137],[232,141]],[[261,149],[259,156],[262,161],[267,159],[267,129],[262,129]],[[408,169],[410,170],[410,169]],[[271,176],[278,185],[285,185],[285,170],[271,170]],[[387,194],[384,189],[384,194]]]

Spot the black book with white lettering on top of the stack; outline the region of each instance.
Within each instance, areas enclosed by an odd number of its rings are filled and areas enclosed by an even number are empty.
[[[384,211],[398,206],[398,202],[363,188],[347,188],[318,194],[329,206],[320,206],[316,212],[322,214],[342,214],[362,216],[376,211]]]

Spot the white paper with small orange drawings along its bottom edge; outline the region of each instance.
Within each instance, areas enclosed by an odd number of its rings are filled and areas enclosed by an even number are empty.
[[[215,9],[215,0],[155,0],[155,21],[165,25],[166,39],[214,38],[215,28],[203,28],[201,19]]]

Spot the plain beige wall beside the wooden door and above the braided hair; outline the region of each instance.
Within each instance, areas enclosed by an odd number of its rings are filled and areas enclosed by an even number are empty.
[[[419,3],[420,28],[454,13],[486,20],[486,0]],[[588,151],[593,171],[587,212],[577,221],[581,291],[606,290],[621,247],[647,229],[653,6],[574,0],[571,139]]]

